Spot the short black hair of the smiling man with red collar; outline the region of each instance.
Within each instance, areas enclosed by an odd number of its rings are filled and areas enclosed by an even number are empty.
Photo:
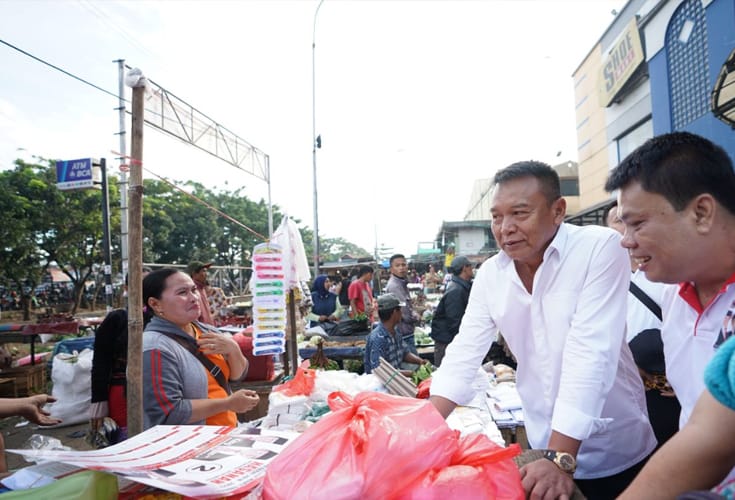
[[[709,193],[735,214],[735,171],[724,149],[690,132],[647,140],[615,167],[605,182],[608,192],[631,182],[660,194],[677,212],[696,196]]]

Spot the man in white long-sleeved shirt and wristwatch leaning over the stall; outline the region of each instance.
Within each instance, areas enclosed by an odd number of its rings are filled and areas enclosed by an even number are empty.
[[[630,263],[620,235],[564,224],[559,176],[544,163],[513,164],[494,185],[490,212],[501,252],[475,277],[431,402],[444,416],[468,403],[482,358],[502,332],[518,359],[529,443],[549,450],[549,460],[521,469],[527,495],[567,498],[574,477],[588,498],[615,498],[656,446],[625,342]]]

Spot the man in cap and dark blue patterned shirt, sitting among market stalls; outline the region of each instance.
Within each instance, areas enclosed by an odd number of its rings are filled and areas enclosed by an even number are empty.
[[[401,368],[401,362],[423,365],[421,359],[408,349],[403,337],[396,331],[396,325],[401,321],[401,308],[405,303],[398,300],[392,293],[385,293],[378,297],[378,317],[380,323],[370,332],[365,344],[365,373],[372,373],[380,366],[380,358],[384,358],[396,369]],[[410,370],[401,370],[404,375],[410,375]]]

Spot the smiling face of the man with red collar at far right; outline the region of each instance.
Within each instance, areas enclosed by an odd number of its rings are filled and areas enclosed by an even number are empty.
[[[621,244],[651,281],[679,283],[699,260],[695,217],[689,206],[677,212],[666,198],[632,182],[618,194],[625,226]]]

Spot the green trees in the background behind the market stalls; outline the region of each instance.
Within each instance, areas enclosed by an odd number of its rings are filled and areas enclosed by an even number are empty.
[[[120,269],[120,195],[115,175],[108,175],[108,185],[113,269]],[[249,252],[268,236],[267,202],[249,200],[242,188],[214,191],[194,182],[179,186],[252,231],[163,181],[145,180],[143,261],[186,264],[196,259],[249,266]],[[55,261],[75,286],[76,311],[85,281],[101,276],[101,191],[60,191],[54,162],[39,158],[36,163],[16,160],[14,169],[0,172],[0,192],[0,284],[35,288],[48,264]],[[274,229],[282,218],[274,206]],[[301,225],[300,220],[294,221]],[[307,256],[311,257],[313,233],[304,227],[300,231]],[[323,262],[344,254],[370,255],[342,238],[323,238],[320,254]]]

